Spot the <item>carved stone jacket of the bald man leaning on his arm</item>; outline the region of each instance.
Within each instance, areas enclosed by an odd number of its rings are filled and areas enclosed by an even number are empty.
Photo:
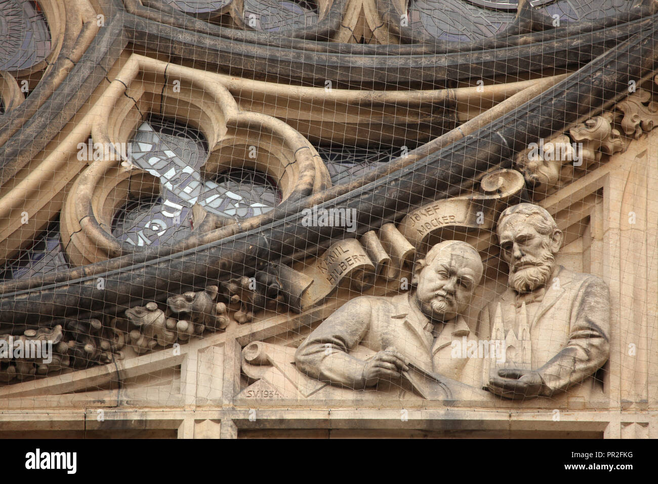
[[[345,303],[297,348],[297,368],[320,381],[363,389],[368,356],[393,346],[407,362],[460,380],[470,365],[451,358],[451,350],[453,341],[470,335],[465,320],[443,323],[435,337],[434,324],[410,297],[362,296]]]

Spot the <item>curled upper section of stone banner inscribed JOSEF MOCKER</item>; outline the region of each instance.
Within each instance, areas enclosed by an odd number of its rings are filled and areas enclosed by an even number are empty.
[[[523,187],[524,178],[518,171],[494,171],[482,178],[482,194],[437,200],[424,205],[402,219],[398,229],[419,252],[426,252],[428,246],[442,238],[443,230],[459,233],[491,230],[497,215],[519,197]]]

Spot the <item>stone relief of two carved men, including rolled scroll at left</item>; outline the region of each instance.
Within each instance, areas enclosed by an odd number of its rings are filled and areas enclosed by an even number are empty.
[[[446,240],[418,259],[410,292],[350,300],[297,350],[249,344],[243,370],[257,379],[265,375],[259,365],[272,365],[297,390],[310,385],[312,394],[329,385],[343,390],[332,393],[340,399],[350,398],[345,390],[368,389],[482,402],[554,399],[567,390],[597,396],[594,374],[609,356],[606,284],[556,263],[563,232],[539,205],[505,209],[497,235],[509,285],[480,311],[476,329],[463,314],[482,279],[480,255],[466,242]],[[460,345],[467,341],[487,349],[465,357]],[[283,390],[263,385],[248,387],[250,395],[284,398]]]

